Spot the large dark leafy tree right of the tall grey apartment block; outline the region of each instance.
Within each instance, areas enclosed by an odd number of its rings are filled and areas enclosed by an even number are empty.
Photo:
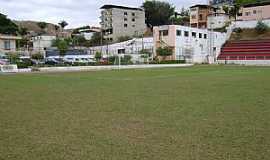
[[[170,24],[170,18],[175,13],[175,7],[168,2],[153,0],[145,1],[142,5],[145,10],[148,27]]]

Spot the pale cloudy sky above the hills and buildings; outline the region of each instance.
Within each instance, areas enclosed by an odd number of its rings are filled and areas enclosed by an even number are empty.
[[[177,10],[207,0],[167,0]],[[45,21],[57,24],[61,20],[68,28],[99,26],[100,7],[104,4],[140,7],[144,0],[0,0],[0,13],[13,20]]]

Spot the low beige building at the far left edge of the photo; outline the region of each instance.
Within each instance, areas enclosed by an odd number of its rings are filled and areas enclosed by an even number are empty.
[[[21,37],[11,35],[0,34],[0,52],[9,53],[16,52],[16,41],[20,40]]]

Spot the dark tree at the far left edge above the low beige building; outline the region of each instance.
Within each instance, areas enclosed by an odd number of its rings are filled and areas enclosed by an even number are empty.
[[[16,35],[18,31],[18,26],[8,19],[6,15],[0,13],[0,33]]]

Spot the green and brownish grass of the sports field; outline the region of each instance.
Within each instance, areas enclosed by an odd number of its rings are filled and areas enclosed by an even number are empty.
[[[0,76],[0,160],[264,160],[270,68]]]

